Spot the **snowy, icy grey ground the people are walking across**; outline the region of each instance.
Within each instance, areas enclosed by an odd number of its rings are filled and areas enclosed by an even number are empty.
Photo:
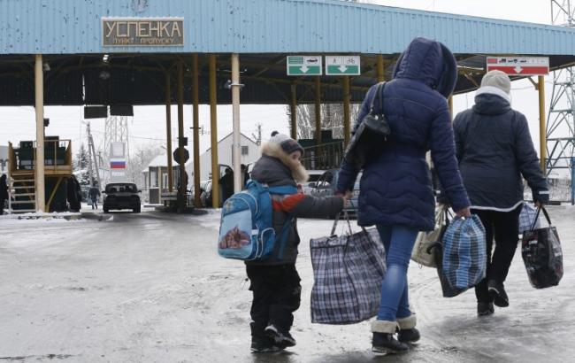
[[[275,355],[249,352],[249,282],[241,262],[215,252],[218,212],[0,220],[0,361],[573,361],[575,208],[548,209],[563,242],[559,286],[534,290],[517,253],[506,282],[510,307],[479,319],[472,291],[443,298],[435,271],[412,264],[422,339],[397,357],[372,354],[369,322],[310,322],[307,241],[327,235],[329,220],[299,222],[298,344]]]

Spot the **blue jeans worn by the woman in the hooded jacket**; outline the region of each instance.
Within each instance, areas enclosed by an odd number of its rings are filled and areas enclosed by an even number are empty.
[[[395,225],[377,225],[386,249],[387,271],[381,283],[378,321],[395,321],[411,315],[408,298],[407,266],[411,250],[418,236],[416,228]]]

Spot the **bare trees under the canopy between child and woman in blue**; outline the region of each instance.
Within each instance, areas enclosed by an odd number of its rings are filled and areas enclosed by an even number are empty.
[[[321,128],[332,130],[335,139],[343,138],[343,104],[321,104]],[[360,104],[350,104],[349,113],[351,127],[356,121]],[[313,139],[316,133],[316,106],[315,104],[300,104],[297,112],[297,138]],[[288,107],[289,115],[289,107]],[[289,123],[288,119],[288,123]],[[291,125],[290,125],[291,126]]]

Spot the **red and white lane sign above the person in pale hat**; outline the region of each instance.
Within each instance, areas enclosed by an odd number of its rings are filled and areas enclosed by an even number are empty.
[[[502,71],[509,75],[547,75],[547,57],[487,57],[487,72]]]

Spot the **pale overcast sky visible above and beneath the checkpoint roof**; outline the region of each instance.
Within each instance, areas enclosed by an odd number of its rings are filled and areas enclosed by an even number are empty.
[[[550,24],[550,2],[537,0],[525,2],[525,0],[364,0],[361,3],[381,4],[398,6],[412,9],[420,9],[434,12],[450,12],[456,14],[474,15],[486,18],[511,19],[534,23]],[[529,6],[525,6],[529,3]],[[407,44],[406,44],[407,45]],[[551,79],[547,78],[546,96],[547,106],[551,96]],[[533,143],[539,149],[539,126],[538,126],[538,94],[533,85],[528,81],[513,83],[512,106],[525,113],[530,122]],[[455,97],[454,111],[460,112],[473,104],[474,93]],[[177,110],[175,106],[172,112],[173,135],[177,136]],[[73,140],[74,150],[78,150],[78,144],[85,143],[85,127],[82,120],[81,107],[45,107],[45,117],[50,118],[50,127],[46,135],[59,135],[60,138]],[[20,140],[35,139],[35,113],[33,107],[0,107],[0,145],[9,141],[17,143]],[[191,106],[184,108],[185,130],[191,136],[190,129]],[[232,107],[218,107],[219,129],[218,136],[229,134],[232,131]],[[209,131],[210,113],[208,106],[200,106],[200,124],[204,130]],[[255,134],[257,123],[263,124],[263,135],[270,135],[272,130],[288,133],[288,116],[285,105],[242,105],[241,107],[242,133],[248,136]],[[91,127],[95,137],[96,148],[99,148],[103,140],[103,120],[92,120]],[[130,149],[135,150],[138,146],[148,143],[165,144],[165,106],[140,106],[134,107],[134,120],[129,124]],[[191,137],[190,137],[191,141]],[[200,143],[201,152],[209,147],[210,135],[203,135]],[[191,147],[191,143],[189,145]],[[75,151],[74,151],[75,152]]]

